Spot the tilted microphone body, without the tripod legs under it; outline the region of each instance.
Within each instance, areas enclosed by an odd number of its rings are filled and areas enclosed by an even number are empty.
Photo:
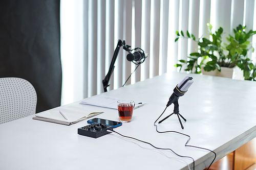
[[[179,84],[174,88],[173,94],[170,96],[169,101],[167,103],[167,107],[172,103],[178,101],[180,96],[184,95],[188,88],[194,83],[193,77],[186,76]]]

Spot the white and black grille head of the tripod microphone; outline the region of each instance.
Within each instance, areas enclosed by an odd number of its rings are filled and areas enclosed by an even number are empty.
[[[188,88],[194,83],[193,77],[186,76],[174,89],[174,92],[178,96],[182,96],[186,93]]]

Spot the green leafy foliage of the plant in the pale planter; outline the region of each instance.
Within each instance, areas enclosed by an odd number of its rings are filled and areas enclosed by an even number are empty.
[[[176,31],[177,38],[189,38],[196,41],[198,44],[198,51],[189,54],[188,61],[179,60],[180,63],[176,64],[176,67],[186,65],[184,70],[200,74],[202,68],[205,71],[218,70],[221,71],[221,67],[233,68],[238,66],[243,70],[243,76],[245,80],[255,80],[256,66],[252,63],[251,59],[247,57],[249,50],[254,51],[251,42],[248,39],[256,34],[256,31],[250,30],[245,32],[245,26],[239,25],[236,30],[234,29],[234,37],[229,35],[226,37],[228,43],[222,42],[223,29],[220,27],[218,31],[212,33],[212,26],[207,23],[210,32],[210,39],[199,38],[193,34],[186,32],[186,36],[183,31]]]

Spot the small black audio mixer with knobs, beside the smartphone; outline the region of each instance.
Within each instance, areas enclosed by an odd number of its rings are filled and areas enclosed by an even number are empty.
[[[98,138],[100,136],[111,133],[106,131],[108,129],[113,130],[113,126],[109,126],[106,124],[93,123],[91,125],[78,128],[78,134],[83,136]]]

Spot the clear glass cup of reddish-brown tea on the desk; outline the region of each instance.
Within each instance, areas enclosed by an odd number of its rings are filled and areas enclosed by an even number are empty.
[[[117,101],[118,115],[120,122],[129,123],[133,116],[134,101],[119,100]]]

